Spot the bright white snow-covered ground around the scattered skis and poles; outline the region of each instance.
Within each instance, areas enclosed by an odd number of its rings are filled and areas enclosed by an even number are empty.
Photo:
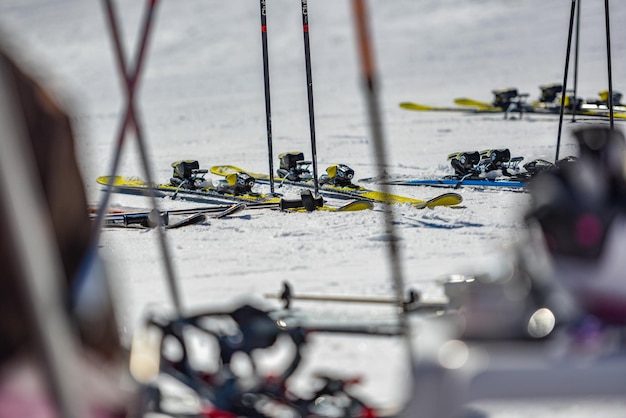
[[[398,103],[450,106],[461,96],[490,101],[491,90],[508,86],[537,97],[540,84],[562,82],[569,1],[376,0],[369,5],[389,173],[449,174],[449,153],[486,148],[509,148],[527,161],[554,159],[557,117],[503,120],[497,114],[418,113]],[[126,51],[134,53],[144,2],[123,1],[118,7]],[[310,157],[311,150],[300,2],[270,0],[267,7],[276,166],[281,152],[297,150]],[[626,27],[620,24],[625,19],[626,3],[612,2],[612,72],[618,91],[626,89]],[[320,173],[341,162],[357,178],[374,176],[350,2],[311,1],[309,25]],[[159,3],[137,99],[155,179],[167,180],[170,163],[180,159],[196,159],[205,168],[234,164],[267,172],[259,26],[259,4],[251,0]],[[101,190],[95,178],[108,174],[124,108],[103,8],[80,0],[3,1],[0,30],[3,42],[13,45],[71,109],[79,164],[96,204]],[[579,96],[597,97],[607,88],[605,48],[604,2],[582,2]],[[576,153],[568,131],[587,123],[566,120],[561,156]],[[139,176],[143,170],[133,139],[128,138],[119,173]],[[417,198],[442,192],[421,187],[393,191]],[[426,296],[440,296],[436,278],[481,271],[525,231],[527,194],[460,193],[462,209],[395,208],[406,285]],[[112,204],[149,203],[113,195]],[[102,235],[102,255],[119,294],[126,340],[147,306],[171,309],[156,238],[155,231],[106,230]],[[262,295],[277,292],[284,280],[302,293],[393,293],[381,208],[355,213],[248,211],[168,231],[167,242],[188,309],[250,297],[263,301]],[[302,308],[339,309],[304,303]],[[368,395],[384,405],[398,404],[407,396],[403,350],[402,342],[393,339],[319,337],[308,361],[310,367],[362,373]],[[598,412],[599,405],[605,413]],[[476,414],[618,417],[623,408],[623,402],[606,399],[533,407],[486,403]]]

